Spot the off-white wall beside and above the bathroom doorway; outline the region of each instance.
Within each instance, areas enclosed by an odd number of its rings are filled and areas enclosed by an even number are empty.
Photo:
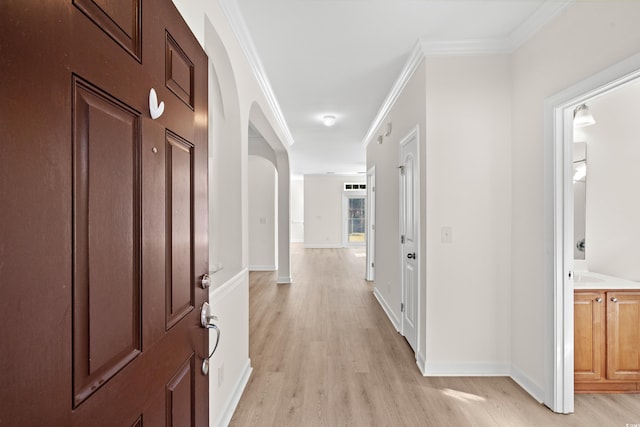
[[[511,363],[539,400],[545,384],[546,98],[638,52],[640,2],[574,2],[512,55]]]

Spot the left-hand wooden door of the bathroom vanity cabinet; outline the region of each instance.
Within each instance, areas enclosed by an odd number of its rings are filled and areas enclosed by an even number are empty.
[[[598,381],[604,372],[604,293],[576,291],[574,297],[575,381]]]

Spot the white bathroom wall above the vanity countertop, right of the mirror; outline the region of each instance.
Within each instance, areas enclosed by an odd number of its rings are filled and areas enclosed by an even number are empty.
[[[589,102],[586,259],[590,271],[640,281],[640,84]]]

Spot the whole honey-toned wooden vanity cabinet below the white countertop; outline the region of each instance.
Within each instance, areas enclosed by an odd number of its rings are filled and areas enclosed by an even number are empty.
[[[576,290],[576,393],[640,393],[640,291]]]

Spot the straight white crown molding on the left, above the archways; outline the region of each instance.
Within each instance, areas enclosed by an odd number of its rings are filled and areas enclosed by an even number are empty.
[[[282,114],[282,109],[280,108],[278,99],[276,98],[276,95],[271,88],[271,83],[269,82],[267,73],[264,69],[264,66],[262,65],[262,61],[260,60],[260,56],[258,55],[256,46],[253,43],[253,39],[251,38],[251,34],[249,33],[247,24],[242,17],[242,12],[238,7],[238,3],[236,0],[218,0],[218,3],[220,4],[224,15],[229,21],[231,30],[240,43],[240,47],[242,48],[242,51],[247,58],[249,67],[253,71],[253,74],[258,81],[258,85],[260,86],[260,89],[262,89],[262,93],[267,99],[267,103],[269,104],[269,107],[271,108],[276,121],[280,125],[282,133],[284,134],[284,137],[286,139],[287,146],[290,147],[295,141],[293,140],[293,136],[291,135],[289,126],[287,125],[287,122],[284,118],[284,114]]]

